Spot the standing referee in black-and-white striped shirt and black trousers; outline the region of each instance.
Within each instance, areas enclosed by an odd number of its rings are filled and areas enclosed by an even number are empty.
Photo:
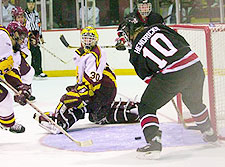
[[[42,71],[42,57],[40,50],[40,41],[44,44],[44,39],[41,32],[41,23],[38,12],[35,8],[35,0],[27,0],[27,9],[25,10],[26,28],[30,32],[30,51],[31,51],[31,66],[35,70],[35,78],[46,78],[47,75]]]

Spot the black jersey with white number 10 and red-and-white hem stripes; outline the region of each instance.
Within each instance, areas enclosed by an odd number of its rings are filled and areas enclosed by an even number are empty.
[[[185,69],[197,62],[188,42],[163,24],[153,25],[138,34],[130,50],[130,62],[143,80],[158,73]]]

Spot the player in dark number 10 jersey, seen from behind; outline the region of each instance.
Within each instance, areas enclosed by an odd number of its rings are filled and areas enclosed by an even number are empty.
[[[205,74],[198,56],[187,41],[163,24],[147,29],[136,29],[128,24],[132,23],[124,24],[123,31],[132,42],[130,63],[137,75],[148,83],[138,105],[147,142],[146,146],[137,149],[139,156],[159,158],[162,132],[156,112],[178,93],[182,94],[184,104],[203,134],[203,140],[216,142],[217,135],[202,101]]]

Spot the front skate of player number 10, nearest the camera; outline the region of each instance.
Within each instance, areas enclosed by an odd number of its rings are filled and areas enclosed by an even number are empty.
[[[160,152],[162,151],[161,136],[162,132],[158,131],[152,141],[148,142],[146,146],[138,148],[137,158],[149,160],[159,159]]]

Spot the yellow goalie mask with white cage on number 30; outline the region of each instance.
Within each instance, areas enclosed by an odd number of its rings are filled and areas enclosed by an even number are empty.
[[[84,49],[91,50],[98,43],[98,33],[93,27],[85,27],[81,31],[81,44]]]

